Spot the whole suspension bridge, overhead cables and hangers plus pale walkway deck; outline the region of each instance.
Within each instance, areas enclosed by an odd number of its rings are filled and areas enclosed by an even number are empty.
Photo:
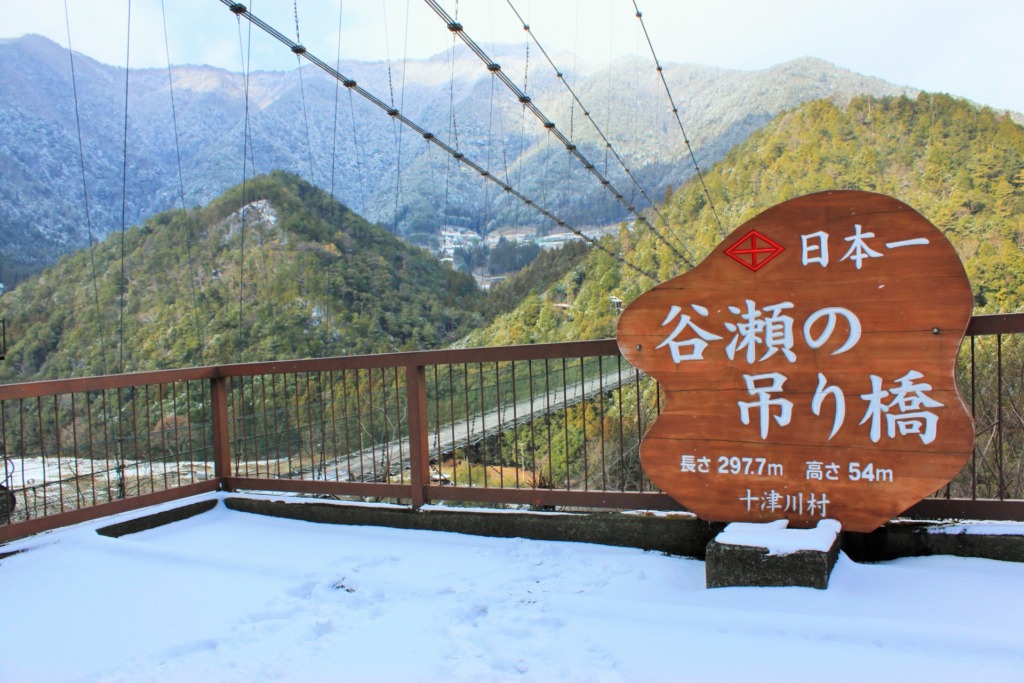
[[[211,0],[212,2],[213,0]],[[442,135],[439,132],[429,129],[426,125],[421,122],[414,120],[412,117],[407,115],[400,109],[400,102],[396,103],[393,89],[390,91],[388,96],[380,95],[378,93],[371,92],[368,88],[360,85],[354,78],[349,75],[343,74],[340,67],[340,59],[335,60],[335,65],[332,66],[326,59],[317,56],[311,50],[307,49],[301,42],[300,39],[300,26],[299,26],[299,6],[298,0],[294,2],[295,10],[295,37],[291,38],[286,35],[282,30],[271,26],[270,24],[262,20],[258,15],[254,14],[249,7],[240,2],[233,2],[231,0],[220,0],[220,2],[225,6],[225,8],[238,18],[239,22],[239,38],[240,38],[240,49],[243,54],[243,78],[244,78],[244,88],[245,88],[245,119],[244,119],[244,142],[243,142],[243,159],[241,160],[242,167],[242,203],[241,203],[241,234],[242,239],[240,241],[240,255],[239,262],[243,264],[241,271],[239,273],[239,301],[238,301],[238,335],[239,342],[237,348],[238,360],[241,362],[242,358],[242,342],[241,335],[243,328],[245,327],[244,317],[244,296],[243,291],[245,288],[245,276],[244,263],[245,263],[245,250],[247,248],[247,243],[245,239],[246,230],[246,209],[250,203],[250,188],[247,187],[248,181],[254,174],[255,160],[253,159],[253,128],[251,124],[250,117],[252,115],[251,97],[250,97],[250,76],[251,76],[251,49],[247,51],[246,42],[243,40],[242,26],[243,22],[247,23],[250,27],[256,30],[262,31],[269,35],[271,38],[280,42],[284,49],[290,50],[295,56],[298,63],[304,60],[309,65],[319,69],[322,72],[326,73],[329,77],[333,78],[337,84],[336,92],[340,91],[340,88],[347,90],[350,95],[358,96],[362,100],[369,102],[374,108],[379,110],[379,115],[388,117],[392,122],[394,122],[396,127],[400,130],[412,131],[416,135],[420,136],[428,145],[440,151],[447,156],[451,163],[460,165],[472,173],[474,173],[481,182],[497,186],[505,196],[514,198],[522,204],[526,209],[534,211],[537,215],[550,223],[551,225],[557,226],[559,228],[568,230],[577,234],[584,242],[589,244],[593,249],[603,252],[607,256],[613,258],[615,261],[621,263],[625,268],[630,269],[638,275],[642,275],[651,281],[657,281],[657,274],[651,270],[650,265],[641,265],[636,262],[629,255],[622,253],[617,247],[612,246],[610,243],[595,239],[588,236],[581,228],[571,224],[569,220],[563,216],[558,215],[553,209],[545,204],[544,198],[537,198],[530,196],[527,190],[525,190],[519,182],[513,183],[513,177],[509,173],[507,166],[504,168],[494,168],[488,165],[487,162],[481,162],[477,159],[471,158],[465,148],[460,145],[457,133],[457,122],[456,122],[456,112],[452,111],[450,113],[451,126],[447,135]],[[588,125],[592,127],[594,133],[602,141],[605,150],[610,155],[610,158],[614,160],[621,173],[620,177],[612,178],[607,172],[607,164],[604,165],[605,170],[599,168],[599,164],[590,158],[580,144],[577,142],[577,134],[571,130],[566,131],[564,126],[559,125],[551,116],[542,111],[541,106],[537,101],[534,101],[529,95],[525,83],[520,86],[506,71],[499,65],[495,58],[481,47],[481,44],[473,38],[470,31],[470,27],[461,24],[456,13],[453,15],[450,13],[439,2],[435,0],[426,0],[427,6],[436,14],[440,27],[447,31],[453,38],[453,49],[455,41],[461,41],[473,54],[475,54],[480,62],[480,68],[489,75],[493,82],[500,83],[509,93],[509,95],[514,99],[515,102],[521,108],[523,114],[529,114],[537,121],[537,125],[541,130],[548,136],[548,138],[555,140],[560,144],[567,153],[567,158],[571,160],[579,168],[586,172],[586,175],[591,178],[591,182],[594,187],[599,188],[601,191],[607,193],[611,198],[614,199],[616,203],[623,206],[632,216],[633,221],[636,225],[641,226],[643,229],[650,231],[663,245],[669,248],[673,254],[679,259],[679,261],[684,265],[692,265],[693,258],[687,250],[687,247],[679,242],[678,240],[673,240],[669,234],[665,232],[664,226],[666,220],[658,212],[658,209],[650,198],[650,194],[646,188],[642,186],[638,179],[638,174],[630,168],[628,162],[626,161],[626,155],[622,154],[613,141],[610,139],[609,135],[605,130],[598,124],[596,119],[598,118],[593,109],[588,106],[580,92],[578,92],[570,82],[570,79],[566,78],[566,72],[559,68],[554,58],[552,57],[552,52],[548,50],[539,40],[535,30],[523,19],[522,14],[516,9],[514,4],[509,0],[509,7],[512,9],[513,13],[517,17],[517,20],[521,24],[522,29],[529,36],[530,44],[535,46],[550,67],[552,73],[555,74],[559,83],[564,87],[565,91],[571,97],[573,111],[574,108],[579,108],[583,119],[588,122]],[[164,39],[165,39],[165,53],[167,55],[167,76],[168,76],[168,92],[169,92],[169,106],[171,110],[171,119],[173,124],[173,134],[174,134],[174,146],[175,156],[177,159],[177,185],[178,185],[178,202],[180,206],[184,208],[186,206],[185,201],[185,168],[181,161],[181,137],[183,131],[179,129],[179,116],[177,111],[177,105],[175,103],[174,94],[174,79],[172,74],[172,67],[170,60],[170,44],[168,39],[167,31],[167,16],[164,10],[163,3],[161,3],[162,19],[164,25]],[[678,129],[683,142],[688,150],[690,159],[692,160],[694,173],[699,177],[701,176],[701,170],[699,164],[697,163],[696,156],[692,146],[690,144],[690,139],[687,136],[685,129],[683,128],[682,120],[679,114],[679,108],[676,104],[674,96],[669,89],[668,81],[665,80],[664,68],[657,59],[657,55],[654,52],[654,46],[650,41],[650,36],[647,33],[646,26],[644,24],[643,13],[640,11],[639,6],[636,2],[633,2],[633,14],[636,20],[639,22],[640,27],[643,29],[645,40],[647,46],[650,50],[651,58],[653,60],[653,68],[656,70],[662,83],[664,84],[665,95],[669,102],[671,112],[673,113],[674,119],[678,124]],[[85,144],[83,142],[83,121],[82,112],[79,106],[79,93],[78,93],[78,75],[76,73],[76,57],[74,52],[74,42],[71,31],[71,22],[68,18],[67,6],[66,6],[66,23],[68,27],[68,43],[69,43],[69,60],[71,66],[71,83],[73,88],[73,96],[75,103],[75,129],[77,133],[78,142],[78,170],[80,171],[81,184],[82,184],[82,199],[84,203],[84,216],[87,223],[87,228],[90,237],[89,253],[90,262],[92,264],[91,280],[92,280],[92,298],[93,304],[96,308],[96,321],[99,325],[102,316],[99,314],[100,308],[100,287],[99,287],[99,273],[96,269],[95,259],[93,257],[94,250],[96,248],[97,241],[94,239],[94,226],[91,223],[91,213],[89,208],[89,185],[87,182],[87,166],[90,163],[90,159],[86,155]],[[340,18],[339,18],[340,24]],[[128,18],[128,32],[129,40],[126,44],[126,55],[125,62],[126,67],[130,67],[131,54],[130,54],[130,33],[131,33],[131,7],[129,4],[129,18]],[[249,34],[249,41],[251,41],[251,33]],[[340,41],[340,35],[339,35]],[[339,43],[340,44],[340,43]],[[339,47],[340,53],[340,47]],[[528,59],[528,47],[526,53]],[[128,161],[128,146],[129,146],[129,69],[125,70],[125,80],[124,80],[124,111],[123,111],[123,154],[122,154],[122,187],[121,187],[121,234],[120,234],[120,278],[118,284],[117,300],[118,300],[118,323],[116,326],[103,325],[96,330],[96,336],[100,339],[100,344],[102,346],[102,353],[100,355],[100,367],[95,369],[98,370],[101,375],[106,375],[111,370],[115,370],[118,374],[122,374],[127,370],[126,358],[131,355],[128,349],[127,337],[125,334],[125,311],[126,311],[126,300],[128,296],[128,287],[130,286],[131,279],[127,276],[126,266],[125,266],[125,231],[126,231],[126,219],[127,219],[127,187],[128,187],[128,176],[130,172],[129,161]],[[308,105],[306,102],[305,85],[303,70],[300,68],[298,70],[298,75],[300,79],[300,93],[302,98],[302,122],[305,128],[305,142],[306,152],[308,155],[308,172],[310,178],[314,177],[314,169],[312,162],[312,142],[309,135],[309,124],[308,124]],[[390,63],[388,66],[388,80],[391,81]],[[492,94],[494,97],[494,94]],[[337,113],[338,98],[336,96],[335,109]],[[337,120],[337,116],[335,117]],[[335,131],[337,132],[337,131]],[[332,178],[331,178],[331,194],[335,194],[334,186],[334,167],[336,160],[334,157],[337,155],[337,135],[332,140]],[[401,173],[401,157],[400,157],[400,144],[396,147],[398,152],[398,157],[395,159],[395,172],[396,172],[396,202],[397,193],[400,191],[400,173]],[[488,154],[489,162],[489,154]],[[519,178],[521,181],[521,177]],[[628,189],[624,189],[620,186],[620,182],[625,180],[628,184]],[[702,182],[702,178],[701,178]],[[714,202],[710,194],[707,190],[707,185],[705,185],[705,191],[707,194],[708,203],[713,207]],[[644,200],[644,206],[638,206],[630,196],[637,195]],[[716,212],[717,218],[717,212]],[[663,228],[658,228],[656,225],[660,223]],[[719,220],[719,226],[721,228],[721,221]],[[207,323],[202,319],[200,312],[200,307],[197,303],[199,298],[199,293],[196,287],[196,273],[193,259],[193,245],[190,240],[185,238],[186,247],[186,263],[184,264],[188,269],[188,280],[190,283],[190,298],[191,298],[191,309],[193,309],[193,321],[196,330],[196,339],[198,343],[198,357],[201,362],[204,362],[204,350],[207,346],[207,341],[212,333],[206,329]],[[250,247],[252,248],[252,247]],[[219,334],[224,334],[224,331],[217,331]],[[118,338],[117,344],[112,345],[109,343],[111,335],[116,335]],[[115,357],[109,357],[108,353],[111,350],[111,346],[116,346]],[[457,449],[465,447],[467,445],[472,445],[478,443],[479,441],[489,438],[495,435],[499,435],[509,429],[521,426],[532,420],[536,420],[539,416],[551,414],[553,411],[564,411],[574,404],[592,398],[597,393],[602,391],[608,391],[616,389],[620,387],[622,382],[621,374],[605,374],[598,377],[593,377],[587,380],[581,380],[579,382],[563,385],[556,390],[538,393],[536,395],[530,395],[523,398],[517,398],[504,405],[494,408],[492,410],[481,410],[475,415],[467,415],[461,420],[452,421],[449,424],[436,428],[430,435],[430,450],[432,458],[437,459],[442,454],[451,453]],[[379,479],[381,476],[388,475],[388,468],[383,468],[385,471],[381,472],[380,464],[382,458],[384,461],[390,460],[390,454],[409,450],[409,439],[408,437],[399,438],[395,440],[388,441],[386,443],[375,445],[370,449],[362,449],[360,451],[349,453],[341,456],[334,456],[332,459],[322,459],[318,465],[312,466],[312,468],[298,468],[292,472],[293,476],[305,477],[310,473],[314,476],[327,476],[329,471],[332,471],[332,477],[340,480],[371,480]],[[316,471],[312,471],[315,469]],[[57,470],[59,473],[59,470]],[[45,472],[45,467],[44,467]],[[369,475],[368,472],[373,472],[374,474]],[[166,472],[165,472],[166,475]],[[43,476],[43,484],[45,485],[45,474]]]

